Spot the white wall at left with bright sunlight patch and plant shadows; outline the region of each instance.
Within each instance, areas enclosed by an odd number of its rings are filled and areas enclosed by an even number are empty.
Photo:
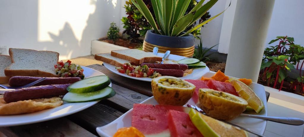
[[[60,59],[91,54],[91,40],[119,26],[122,0],[2,0],[0,47],[50,50]]]

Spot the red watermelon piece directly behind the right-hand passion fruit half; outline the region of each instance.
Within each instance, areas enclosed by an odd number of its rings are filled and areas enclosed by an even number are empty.
[[[213,90],[223,91],[226,93],[230,93],[230,94],[239,96],[237,94],[237,91],[235,90],[235,88],[230,83],[220,82],[220,81],[216,81],[216,80],[209,80],[207,82],[207,86]]]

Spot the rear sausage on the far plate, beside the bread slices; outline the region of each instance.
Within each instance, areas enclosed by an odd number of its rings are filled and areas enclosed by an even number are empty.
[[[177,69],[185,71],[188,69],[187,64],[151,64],[151,63],[142,63],[140,66],[147,65],[149,68],[161,68],[161,69]]]

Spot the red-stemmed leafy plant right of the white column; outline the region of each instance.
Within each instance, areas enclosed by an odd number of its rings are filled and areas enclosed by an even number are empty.
[[[264,51],[264,57],[261,69],[264,69],[262,75],[266,81],[267,86],[272,85],[273,88],[282,90],[284,81],[287,81],[295,91],[304,93],[304,74],[302,76],[301,70],[303,63],[299,66],[300,60],[304,59],[304,48],[300,45],[294,44],[294,38],[288,36],[278,36],[277,39],[271,40],[269,44],[279,41],[278,45],[267,47]],[[298,79],[293,79],[287,76],[287,72],[291,72],[297,65],[300,70]]]

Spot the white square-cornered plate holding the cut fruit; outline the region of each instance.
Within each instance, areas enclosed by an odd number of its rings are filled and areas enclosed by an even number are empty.
[[[204,74],[203,76],[211,77],[214,74],[215,74],[214,72],[208,72],[208,73]],[[263,101],[264,106],[265,106],[265,108],[257,115],[267,116],[267,101],[266,101],[264,86],[262,86],[261,84],[252,83],[250,85],[250,88],[257,94],[258,97],[260,97],[260,99]],[[158,103],[156,102],[154,97],[150,97],[147,100],[141,102],[141,104],[156,105]],[[195,105],[195,103],[192,99],[190,99],[187,104]],[[130,127],[131,120],[132,120],[132,110],[133,110],[133,108],[130,109],[129,111],[127,111],[125,114],[121,115],[116,120],[112,121],[111,123],[109,123],[105,126],[97,127],[96,131],[97,131],[98,135],[100,135],[101,137],[112,137],[119,128]],[[256,114],[256,113],[253,112],[252,114]],[[248,118],[248,117],[242,117],[242,116],[240,116],[230,122],[232,122],[233,124],[239,125],[241,127],[250,129],[250,130],[252,130],[256,133],[262,134],[262,135],[264,134],[264,131],[266,128],[266,123],[267,123],[266,120]]]

